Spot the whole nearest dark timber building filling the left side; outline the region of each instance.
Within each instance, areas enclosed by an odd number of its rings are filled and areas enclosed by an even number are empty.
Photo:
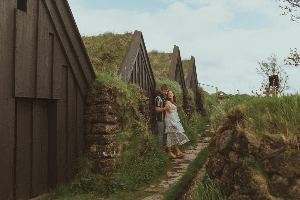
[[[69,181],[95,72],[66,0],[0,0],[0,199]]]

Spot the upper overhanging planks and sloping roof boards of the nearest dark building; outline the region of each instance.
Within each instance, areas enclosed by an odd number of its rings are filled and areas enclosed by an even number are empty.
[[[60,99],[59,54],[85,96],[96,76],[67,1],[29,0],[27,12],[15,9],[15,19],[14,96]]]

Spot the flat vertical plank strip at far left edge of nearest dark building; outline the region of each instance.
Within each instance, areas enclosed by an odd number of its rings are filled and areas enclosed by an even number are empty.
[[[0,197],[3,199],[14,198],[15,101],[12,77],[16,7],[16,1],[0,0]]]

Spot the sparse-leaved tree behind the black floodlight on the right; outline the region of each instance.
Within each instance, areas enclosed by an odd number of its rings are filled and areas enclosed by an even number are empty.
[[[263,77],[262,89],[269,88],[269,76],[278,75],[279,86],[277,87],[277,93],[281,93],[289,89],[288,79],[289,75],[283,70],[282,66],[277,66],[277,58],[274,53],[267,57],[269,63],[265,61],[258,62],[259,68],[256,68],[256,73]]]

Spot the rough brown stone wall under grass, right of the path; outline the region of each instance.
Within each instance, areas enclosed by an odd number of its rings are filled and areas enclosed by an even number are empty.
[[[245,132],[237,129],[241,118],[241,113],[227,116],[223,126],[212,137],[206,172],[212,178],[219,179],[221,189],[231,199],[266,199],[256,196],[258,189],[250,184],[253,177],[247,166],[251,165],[252,160],[265,169],[263,173],[268,184],[264,192],[275,197],[298,199],[300,153],[297,144],[300,133],[297,133],[297,142],[293,147],[288,148],[283,139],[264,137],[257,148],[248,141]]]

